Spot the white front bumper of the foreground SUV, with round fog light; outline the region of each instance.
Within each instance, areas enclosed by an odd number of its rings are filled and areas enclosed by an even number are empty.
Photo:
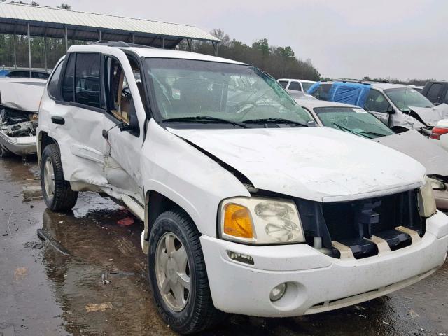
[[[307,244],[248,246],[201,237],[214,305],[228,313],[286,317],[328,311],[386,295],[435,272],[448,249],[448,217],[437,212],[411,246],[365,259],[335,259]],[[254,265],[227,251],[251,255]],[[288,283],[271,302],[269,293]]]

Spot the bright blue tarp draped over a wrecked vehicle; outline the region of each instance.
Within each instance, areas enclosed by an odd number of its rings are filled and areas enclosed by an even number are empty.
[[[321,83],[315,83],[307,91],[313,94],[321,86]],[[328,94],[320,94],[321,99],[330,102],[339,102],[363,107],[370,92],[370,84],[334,82],[332,83]]]

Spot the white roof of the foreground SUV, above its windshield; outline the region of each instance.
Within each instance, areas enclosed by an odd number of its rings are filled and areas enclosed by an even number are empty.
[[[107,45],[72,45],[69,48],[69,52],[104,52],[107,53],[108,48],[120,48],[121,50],[130,50],[139,57],[154,57],[154,58],[177,58],[177,59],[194,59],[198,61],[208,62],[220,62],[230,64],[245,64],[234,61],[232,59],[226,59],[222,57],[210,56],[199,54],[197,52],[180,51],[180,50],[168,50],[160,48],[138,48],[138,47],[113,47]],[[247,64],[245,64],[247,65]]]

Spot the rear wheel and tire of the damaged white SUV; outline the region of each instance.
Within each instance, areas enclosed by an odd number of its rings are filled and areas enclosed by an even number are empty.
[[[57,145],[48,145],[43,149],[41,187],[43,200],[52,211],[69,211],[78,200],[78,192],[71,190],[69,181],[64,179]]]

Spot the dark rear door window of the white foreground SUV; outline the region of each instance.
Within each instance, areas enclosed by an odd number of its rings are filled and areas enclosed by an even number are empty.
[[[100,54],[76,54],[75,102],[92,107],[101,107],[99,90]]]

